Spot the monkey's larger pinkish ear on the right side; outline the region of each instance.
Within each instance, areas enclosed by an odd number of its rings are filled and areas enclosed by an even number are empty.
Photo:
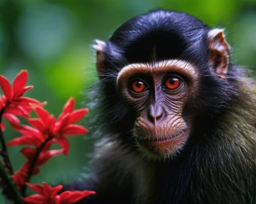
[[[207,34],[209,61],[215,73],[222,79],[228,72],[230,47],[225,39],[223,29],[213,29]]]

